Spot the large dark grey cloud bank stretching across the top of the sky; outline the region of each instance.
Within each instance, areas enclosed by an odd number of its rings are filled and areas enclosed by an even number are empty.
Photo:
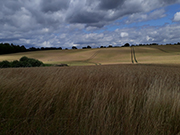
[[[176,3],[178,0],[1,0],[0,10],[3,20],[15,26],[18,20],[31,18],[38,24],[57,25],[59,23],[82,23],[86,26],[102,27],[121,17],[142,13],[155,8]],[[28,13],[29,12],[29,13]],[[14,20],[13,20],[14,19]],[[1,17],[0,17],[1,20]],[[2,23],[1,21],[1,23]],[[4,22],[3,22],[4,23]],[[25,22],[26,23],[26,22]]]

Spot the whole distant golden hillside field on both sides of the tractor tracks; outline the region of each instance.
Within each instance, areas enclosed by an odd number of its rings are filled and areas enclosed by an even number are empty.
[[[136,46],[138,63],[141,64],[180,64],[180,46]],[[22,56],[38,59],[45,64],[66,63],[75,65],[130,64],[131,48],[96,48],[77,50],[49,50],[0,55],[0,61],[18,60]]]

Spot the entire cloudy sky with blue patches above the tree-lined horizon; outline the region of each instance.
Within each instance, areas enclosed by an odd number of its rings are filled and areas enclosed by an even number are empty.
[[[82,48],[180,42],[180,0],[0,0],[0,43]]]

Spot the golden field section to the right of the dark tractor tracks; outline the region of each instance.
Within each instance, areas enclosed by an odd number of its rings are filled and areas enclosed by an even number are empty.
[[[180,46],[135,47],[139,63],[180,64]]]

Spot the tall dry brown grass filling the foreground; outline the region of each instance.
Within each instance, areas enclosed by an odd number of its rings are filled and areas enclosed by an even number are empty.
[[[0,134],[176,135],[179,66],[0,69]]]

